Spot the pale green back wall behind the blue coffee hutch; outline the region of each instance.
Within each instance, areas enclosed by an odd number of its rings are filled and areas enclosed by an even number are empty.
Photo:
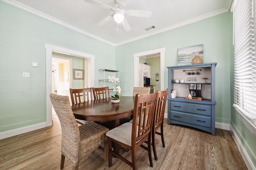
[[[183,27],[152,35],[144,39],[116,47],[116,69],[126,75],[120,76],[122,95],[132,93],[133,54],[165,47],[165,88],[167,88],[167,66],[177,65],[178,48],[204,44],[204,63],[216,66],[216,121],[230,123],[230,30],[229,14],[225,13]],[[123,63],[126,63],[124,65]],[[130,77],[128,79],[127,77]]]

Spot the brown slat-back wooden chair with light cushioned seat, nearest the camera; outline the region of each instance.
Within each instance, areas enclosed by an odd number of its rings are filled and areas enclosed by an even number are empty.
[[[156,105],[157,92],[147,95],[136,94],[134,102],[133,123],[124,123],[106,133],[108,137],[108,166],[112,165],[112,155],[137,169],[136,149],[142,147],[148,151],[150,166],[153,167],[151,156],[151,143],[147,147],[142,145],[145,141],[151,141],[151,127]],[[140,113],[140,114],[138,114]],[[146,116],[148,114],[148,117]],[[137,117],[140,117],[137,119]],[[143,116],[143,117],[142,117]],[[137,122],[138,120],[138,122]],[[138,125],[137,125],[138,124]],[[128,148],[132,152],[132,162],[112,150],[112,142]]]

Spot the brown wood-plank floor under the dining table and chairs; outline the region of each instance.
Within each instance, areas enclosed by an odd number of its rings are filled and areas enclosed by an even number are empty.
[[[54,125],[29,133],[0,140],[0,170],[58,170],[60,169],[61,127],[56,115]],[[216,136],[204,131],[167,125],[164,120],[162,147],[160,135],[156,135],[158,160],[150,167],[144,149],[137,152],[139,170],[246,170],[246,164],[229,131],[216,129]],[[131,158],[130,151],[120,152]],[[154,158],[152,152],[152,158]],[[64,170],[72,169],[65,160]],[[104,161],[103,150],[94,150],[79,164],[81,170],[130,170],[130,166],[113,157],[112,167]]]

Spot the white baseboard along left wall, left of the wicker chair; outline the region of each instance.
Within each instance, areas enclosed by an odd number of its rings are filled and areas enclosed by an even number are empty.
[[[46,127],[46,122],[21,127],[21,128],[18,128],[18,129],[12,129],[10,131],[5,131],[5,132],[0,133],[0,139],[5,139],[5,138],[12,137],[12,136],[15,136],[15,135],[20,135],[22,133],[27,133],[27,132],[34,131],[34,130],[37,130],[37,129],[42,129],[44,127]]]

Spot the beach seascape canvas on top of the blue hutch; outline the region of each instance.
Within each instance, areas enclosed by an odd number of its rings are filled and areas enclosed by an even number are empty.
[[[203,59],[204,57],[204,45],[194,45],[190,47],[183,47],[178,49],[178,66],[191,65],[192,59],[199,55]]]

